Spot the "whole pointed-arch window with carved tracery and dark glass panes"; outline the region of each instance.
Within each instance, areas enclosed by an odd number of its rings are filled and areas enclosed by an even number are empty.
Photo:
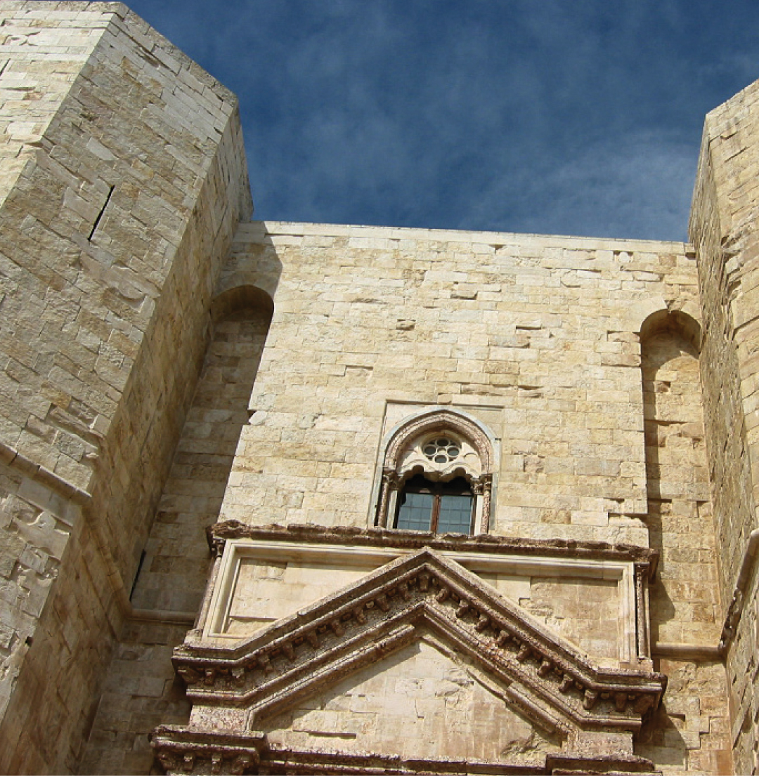
[[[416,417],[385,450],[375,525],[437,534],[489,530],[493,448],[451,411]]]

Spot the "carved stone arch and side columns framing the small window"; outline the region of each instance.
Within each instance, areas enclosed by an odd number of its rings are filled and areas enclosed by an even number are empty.
[[[473,476],[468,467],[455,469],[468,480],[474,497],[474,520],[471,535],[489,533],[493,514],[493,480],[496,455],[493,435],[475,418],[461,411],[434,408],[406,418],[391,431],[381,452],[380,487],[374,514],[378,528],[393,528],[398,496],[403,483],[416,473],[419,466],[402,471],[402,457],[417,440],[433,435],[452,435],[468,443],[479,457],[480,473]],[[431,471],[430,467],[430,471]]]

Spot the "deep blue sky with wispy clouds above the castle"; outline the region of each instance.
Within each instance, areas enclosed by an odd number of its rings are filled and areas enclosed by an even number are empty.
[[[240,99],[256,218],[685,238],[757,0],[127,0]]]

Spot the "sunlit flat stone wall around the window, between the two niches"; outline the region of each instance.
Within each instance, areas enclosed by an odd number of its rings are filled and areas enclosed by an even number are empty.
[[[445,405],[500,441],[496,533],[647,542],[639,331],[697,310],[683,244],[257,228],[236,260],[282,270],[223,518],[370,525],[382,438]]]

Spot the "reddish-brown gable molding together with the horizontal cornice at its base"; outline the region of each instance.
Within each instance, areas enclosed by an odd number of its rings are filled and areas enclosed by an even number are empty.
[[[259,732],[281,712],[422,639],[443,643],[496,681],[503,702],[557,736],[561,753],[527,768],[508,758],[402,760],[387,753],[295,751],[270,745]],[[429,548],[381,566],[243,643],[186,643],[173,662],[195,706],[196,727],[158,728],[153,746],[170,774],[188,776],[651,773],[649,760],[632,750],[611,756],[594,736],[603,742],[635,733],[667,684],[653,671],[598,667],[474,573]]]

